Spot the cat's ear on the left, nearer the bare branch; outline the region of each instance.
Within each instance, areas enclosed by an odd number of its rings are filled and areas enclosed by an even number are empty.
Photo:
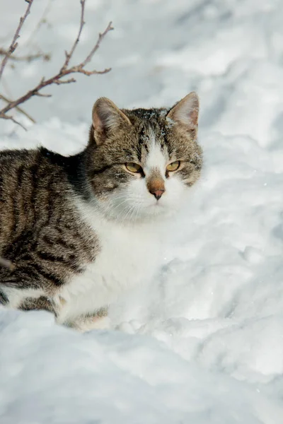
[[[122,125],[132,125],[125,113],[108,98],[99,98],[93,105],[93,132],[96,143],[101,144],[105,138]]]

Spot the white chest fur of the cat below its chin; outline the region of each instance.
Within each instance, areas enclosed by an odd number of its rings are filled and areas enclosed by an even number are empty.
[[[160,264],[161,242],[154,226],[120,226],[89,215],[100,253],[85,271],[64,285],[60,294],[65,305],[59,320],[64,322],[115,302],[120,293],[148,283]],[[90,222],[91,221],[91,222]]]

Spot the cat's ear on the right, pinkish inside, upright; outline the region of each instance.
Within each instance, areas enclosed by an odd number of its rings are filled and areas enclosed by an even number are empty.
[[[197,129],[200,102],[194,91],[185,96],[169,110],[167,117],[179,124],[187,126],[190,131]]]

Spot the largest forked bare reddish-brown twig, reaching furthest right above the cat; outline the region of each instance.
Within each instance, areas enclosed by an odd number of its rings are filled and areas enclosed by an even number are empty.
[[[33,1],[33,0],[30,0],[30,1]],[[103,71],[96,71],[96,70],[87,71],[86,69],[84,69],[84,66],[86,66],[86,64],[88,64],[91,61],[93,54],[95,54],[95,52],[100,47],[100,43],[103,41],[103,38],[105,37],[105,35],[109,33],[110,30],[113,29],[112,22],[108,23],[103,33],[100,33],[98,35],[98,40],[96,42],[96,45],[93,47],[93,49],[91,49],[91,52],[88,54],[86,59],[82,61],[81,64],[79,65],[69,67],[69,62],[71,60],[71,57],[74,54],[76,46],[79,43],[79,38],[81,36],[81,31],[84,25],[84,6],[86,3],[86,0],[80,0],[80,2],[81,2],[81,18],[80,18],[80,25],[79,25],[79,33],[70,51],[65,52],[65,61],[61,69],[59,70],[59,72],[56,75],[52,76],[51,78],[48,78],[47,80],[45,80],[45,78],[41,78],[40,83],[38,83],[37,86],[35,86],[35,88],[33,88],[32,90],[29,90],[28,93],[25,93],[20,98],[9,102],[8,105],[6,105],[3,109],[0,110],[0,118],[3,118],[6,112],[8,112],[9,110],[15,107],[18,107],[18,105],[21,105],[23,102],[26,102],[27,100],[29,100],[31,97],[33,97],[33,95],[42,95],[42,93],[40,93],[40,90],[42,90],[43,88],[47,86],[50,86],[52,84],[60,85],[60,84],[75,83],[76,82],[75,78],[62,79],[63,77],[68,76],[71,73],[83,73],[84,75],[90,76],[90,75],[93,75],[94,73],[101,74],[101,73],[107,73],[110,71],[110,68],[103,69]],[[50,95],[45,95],[45,94],[43,94],[42,96],[50,97]],[[8,119],[11,119],[11,117],[8,117]]]

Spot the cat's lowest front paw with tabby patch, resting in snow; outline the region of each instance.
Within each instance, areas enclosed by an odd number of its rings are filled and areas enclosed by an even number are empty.
[[[108,317],[108,309],[103,307],[93,314],[81,315],[73,321],[64,324],[82,333],[93,329],[109,329],[110,318]]]

